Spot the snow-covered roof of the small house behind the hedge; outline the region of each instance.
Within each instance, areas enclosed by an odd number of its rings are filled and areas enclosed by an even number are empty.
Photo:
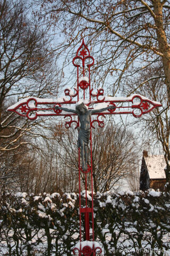
[[[145,156],[144,158],[145,158],[150,179],[166,179],[166,175],[164,171],[166,167],[166,162],[165,162],[164,156],[153,155],[153,156]]]

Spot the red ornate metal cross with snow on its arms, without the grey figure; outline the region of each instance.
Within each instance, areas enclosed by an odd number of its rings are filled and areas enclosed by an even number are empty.
[[[79,119],[75,120],[72,117],[77,116],[75,113],[67,113],[61,109],[55,109],[55,106],[73,106],[75,104],[83,101],[84,104],[89,109],[101,109],[104,107],[115,106],[115,109],[108,109],[103,113],[95,113],[96,119],[90,121],[90,130],[95,128],[94,124],[97,123],[99,127],[104,126],[104,119],[106,115],[120,115],[120,114],[132,114],[134,117],[141,117],[149,113],[152,109],[162,106],[159,102],[152,101],[138,94],[133,94],[130,97],[116,98],[108,97],[104,95],[104,89],[98,88],[96,92],[91,87],[90,81],[90,68],[94,65],[94,58],[90,55],[90,51],[87,45],[84,44],[84,40],[77,50],[76,56],[73,58],[73,65],[77,67],[77,87],[73,89],[67,88],[64,90],[65,96],[57,99],[40,99],[40,98],[25,98],[15,105],[9,107],[8,111],[13,111],[20,116],[27,117],[29,119],[35,120],[38,116],[64,116],[67,117],[65,121],[65,127],[69,128],[72,124],[75,128],[79,126]],[[86,68],[85,68],[86,67]],[[81,68],[81,74],[80,74]],[[89,97],[87,97],[87,93]],[[68,107],[67,107],[68,108]],[[69,120],[68,120],[69,118]],[[93,203],[93,177],[92,177],[92,140],[90,132],[90,151],[91,160],[90,166],[86,171],[82,170],[81,159],[80,159],[80,148],[79,148],[79,203],[80,203],[80,246],[75,245],[73,253],[78,251],[79,255],[96,255],[96,250],[99,249],[99,254],[101,253],[101,248],[99,246],[95,247],[96,243],[91,243],[94,241],[94,203]],[[83,172],[86,177],[86,205],[82,207],[81,205],[81,182],[80,173]],[[87,191],[87,175],[90,175],[91,179],[91,206],[88,206],[88,191]],[[92,241],[87,242],[85,246],[81,247],[82,234],[81,234],[81,214],[84,214],[85,219],[85,236],[86,241],[90,240],[90,226],[89,226],[89,216],[92,219]],[[83,245],[83,243],[82,243]],[[97,255],[99,255],[97,254]]]

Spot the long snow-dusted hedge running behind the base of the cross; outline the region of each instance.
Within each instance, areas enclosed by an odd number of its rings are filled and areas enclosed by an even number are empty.
[[[79,241],[78,195],[17,193],[0,201],[0,255],[73,255]],[[90,193],[88,201],[90,205]],[[169,210],[169,194],[155,190],[95,194],[95,240],[103,255],[147,255],[147,250],[165,255],[170,249]]]

